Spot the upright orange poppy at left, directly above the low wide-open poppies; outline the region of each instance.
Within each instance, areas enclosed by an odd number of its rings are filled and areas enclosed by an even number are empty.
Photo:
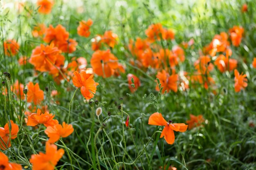
[[[44,99],[44,92],[40,89],[38,83],[35,85],[32,82],[27,84],[27,102],[34,102],[35,105],[39,104]]]

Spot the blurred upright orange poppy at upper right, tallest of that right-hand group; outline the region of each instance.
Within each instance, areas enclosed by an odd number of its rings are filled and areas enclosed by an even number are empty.
[[[239,46],[242,40],[244,29],[242,26],[233,26],[229,29],[230,38],[234,46]]]

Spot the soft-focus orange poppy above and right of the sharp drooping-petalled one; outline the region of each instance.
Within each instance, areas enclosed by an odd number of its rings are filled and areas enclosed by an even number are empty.
[[[161,87],[163,87],[162,93],[164,93],[164,91],[167,91],[168,93],[170,90],[174,92],[178,91],[177,74],[169,75],[165,70],[162,70],[162,72],[157,73],[157,78],[160,80]],[[155,86],[155,89],[159,91],[158,84]]]

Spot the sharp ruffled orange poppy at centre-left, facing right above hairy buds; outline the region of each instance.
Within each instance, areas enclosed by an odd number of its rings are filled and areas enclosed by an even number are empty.
[[[78,73],[78,71],[74,72],[73,84],[81,88],[80,91],[87,100],[94,96],[97,86],[99,85],[99,83],[96,83],[92,78],[93,75],[86,74],[86,71],[81,71],[81,73]]]

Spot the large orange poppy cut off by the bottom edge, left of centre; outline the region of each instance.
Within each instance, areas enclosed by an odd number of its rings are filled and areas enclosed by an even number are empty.
[[[32,163],[32,170],[54,170],[58,161],[64,155],[64,150],[57,150],[57,146],[46,142],[45,153],[31,155],[29,162]]]

